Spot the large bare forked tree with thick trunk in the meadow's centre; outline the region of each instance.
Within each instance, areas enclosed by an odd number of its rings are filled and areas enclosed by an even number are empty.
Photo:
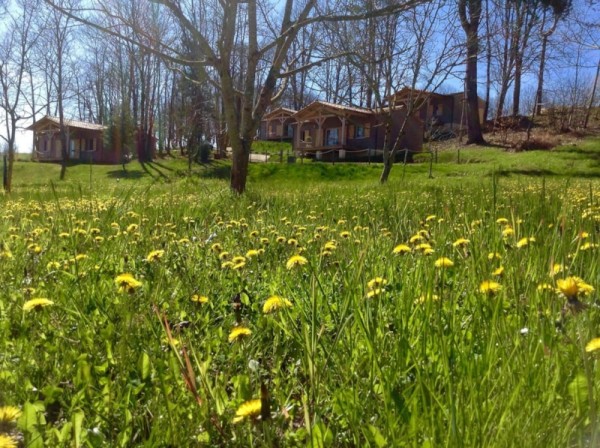
[[[198,56],[194,60],[188,59],[186,54],[182,54],[172,42],[165,41],[162,36],[149,44],[137,37],[124,36],[114,28],[103,27],[98,18],[91,15],[91,11],[87,16],[75,15],[54,0],[46,2],[83,23],[116,33],[147,51],[160,54],[175,65],[206,70],[207,79],[219,89],[222,96],[227,133],[233,152],[231,188],[242,193],[246,187],[252,141],[263,114],[283,94],[290,76],[317,63],[311,61],[303,67],[293,69],[285,66],[292,43],[300,30],[319,22],[343,22],[382,16],[406,10],[422,0],[384,3],[372,11],[363,8],[357,10],[356,5],[350,8],[340,2],[318,4],[316,0],[308,0],[295,8],[294,0],[286,0],[280,13],[261,0],[248,0],[244,3],[237,0],[155,0],[156,4],[163,7],[163,14],[179,30],[180,35],[189,37],[195,47],[193,54]],[[139,30],[137,23],[120,15],[108,0],[96,2],[94,12],[96,11],[101,11],[104,17],[118,19],[122,26],[144,33],[144,30]],[[277,24],[275,17],[278,19]],[[148,33],[145,35],[156,38]]]

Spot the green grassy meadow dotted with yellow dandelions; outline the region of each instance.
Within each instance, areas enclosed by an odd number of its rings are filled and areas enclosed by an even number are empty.
[[[429,169],[18,162],[0,447],[599,446],[600,141]]]

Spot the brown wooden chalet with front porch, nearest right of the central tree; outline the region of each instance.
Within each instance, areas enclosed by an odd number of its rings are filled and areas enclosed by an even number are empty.
[[[391,141],[404,121],[404,108],[392,111]],[[298,111],[293,146],[297,154],[317,160],[365,160],[381,157],[384,144],[383,116],[371,109],[314,101]],[[402,149],[420,151],[423,127],[410,117],[400,142]]]

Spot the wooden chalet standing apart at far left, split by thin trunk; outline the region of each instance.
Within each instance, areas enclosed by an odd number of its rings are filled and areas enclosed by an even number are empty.
[[[117,154],[104,147],[106,126],[84,121],[64,120],[67,133],[69,160],[95,163],[120,163]],[[46,115],[29,126],[34,135],[34,159],[40,162],[62,160],[60,120]]]

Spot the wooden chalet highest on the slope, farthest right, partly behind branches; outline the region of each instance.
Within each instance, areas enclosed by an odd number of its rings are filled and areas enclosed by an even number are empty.
[[[478,100],[479,119],[483,123],[485,101],[481,98]],[[395,106],[407,106],[413,102],[416,115],[430,132],[460,131],[467,127],[463,92],[441,94],[404,87],[391,96],[390,102]]]

